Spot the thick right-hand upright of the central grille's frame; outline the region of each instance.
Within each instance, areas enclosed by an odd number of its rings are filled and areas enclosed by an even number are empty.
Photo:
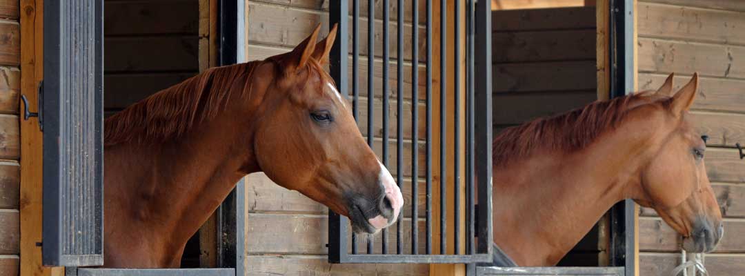
[[[478,164],[478,248],[479,253],[492,253],[492,7],[491,1],[476,4],[475,83],[475,164]]]

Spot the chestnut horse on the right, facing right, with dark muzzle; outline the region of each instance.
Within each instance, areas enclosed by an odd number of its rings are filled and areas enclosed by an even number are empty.
[[[627,198],[656,210],[685,251],[714,250],[722,214],[688,116],[698,75],[674,94],[672,82],[495,136],[492,265],[555,266]]]

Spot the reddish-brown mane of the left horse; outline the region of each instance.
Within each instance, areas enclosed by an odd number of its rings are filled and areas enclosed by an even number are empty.
[[[261,63],[207,69],[127,107],[104,122],[104,145],[164,142],[179,137],[195,124],[215,118],[233,93],[250,95],[250,78]]]

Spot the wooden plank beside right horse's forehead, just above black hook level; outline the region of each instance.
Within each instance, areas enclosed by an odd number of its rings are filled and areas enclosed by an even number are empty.
[[[689,118],[699,134],[708,135],[708,147],[745,145],[745,114],[694,111]]]

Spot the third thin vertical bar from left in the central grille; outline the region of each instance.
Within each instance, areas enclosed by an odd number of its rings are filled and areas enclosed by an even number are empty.
[[[388,167],[388,113],[390,112],[390,0],[383,0],[383,166]],[[401,166],[401,164],[396,164]],[[388,229],[383,228],[382,252],[388,254]]]

